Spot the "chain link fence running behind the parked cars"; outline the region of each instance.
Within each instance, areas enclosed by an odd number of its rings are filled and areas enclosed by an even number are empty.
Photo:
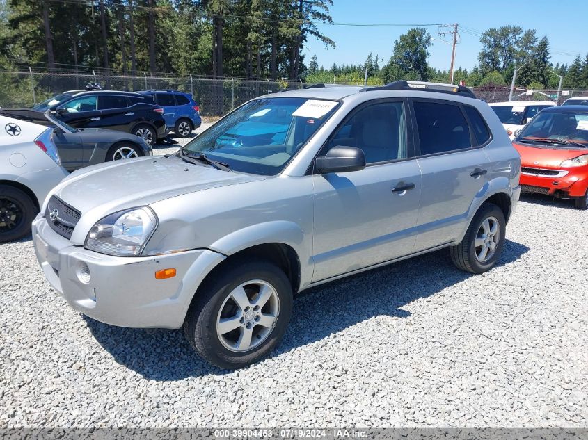
[[[210,79],[198,76],[116,75],[94,72],[24,72],[0,71],[0,107],[31,107],[66,90],[80,90],[88,83],[98,83],[107,90],[171,89],[190,93],[200,106],[203,116],[221,116],[249,99],[280,90],[293,90],[306,85],[302,81],[244,80],[237,78]],[[352,85],[361,85],[353,83]],[[508,101],[510,90],[474,88],[476,96],[487,102]],[[570,97],[587,96],[588,90],[566,90],[558,104]],[[555,101],[557,90],[516,89],[514,101]]]

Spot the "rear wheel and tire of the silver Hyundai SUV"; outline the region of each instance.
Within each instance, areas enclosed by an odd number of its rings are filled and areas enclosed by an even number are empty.
[[[450,247],[453,263],[466,272],[491,270],[504,247],[507,222],[502,210],[485,203],[477,211],[459,245]]]

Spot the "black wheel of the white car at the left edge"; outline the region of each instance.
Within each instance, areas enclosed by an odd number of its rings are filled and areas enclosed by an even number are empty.
[[[0,243],[31,234],[31,223],[37,213],[37,206],[23,190],[0,185]]]

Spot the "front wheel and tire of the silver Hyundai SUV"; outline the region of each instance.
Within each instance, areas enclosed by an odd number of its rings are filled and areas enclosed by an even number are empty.
[[[292,286],[267,261],[239,259],[196,292],[184,334],[202,358],[221,368],[253,364],[276,347],[292,315]]]

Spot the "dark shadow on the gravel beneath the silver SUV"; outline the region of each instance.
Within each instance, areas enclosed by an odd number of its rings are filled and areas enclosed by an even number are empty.
[[[498,266],[521,258],[529,248],[507,240]],[[340,332],[373,316],[405,318],[405,304],[435,295],[473,275],[457,270],[447,250],[418,256],[310,288],[294,299],[288,331],[271,356],[294,350]],[[184,339],[182,330],[129,329],[84,316],[88,329],[119,364],[152,380],[174,381],[228,370],[203,361]]]

